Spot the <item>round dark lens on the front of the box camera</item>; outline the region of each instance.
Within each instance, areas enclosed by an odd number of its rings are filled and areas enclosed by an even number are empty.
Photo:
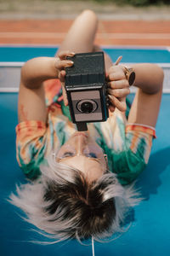
[[[97,103],[93,100],[82,100],[77,103],[77,110],[81,113],[92,113],[97,107]]]

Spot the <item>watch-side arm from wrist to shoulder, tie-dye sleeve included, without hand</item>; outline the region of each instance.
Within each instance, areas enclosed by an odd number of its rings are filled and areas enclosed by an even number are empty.
[[[133,70],[138,90],[127,119],[126,139],[122,143],[125,150],[114,161],[117,177],[123,185],[133,182],[148,163],[153,136],[150,129],[145,128],[156,125],[163,84],[163,71],[154,64],[135,64]],[[144,129],[140,130],[141,126]]]

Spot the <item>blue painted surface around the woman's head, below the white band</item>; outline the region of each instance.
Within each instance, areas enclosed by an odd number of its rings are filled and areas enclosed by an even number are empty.
[[[161,61],[163,62],[163,61]],[[15,183],[26,179],[15,160],[17,93],[0,94],[0,255],[2,256],[87,256],[90,246],[66,241],[40,246],[28,241],[40,239],[32,226],[21,220],[20,211],[5,199]],[[145,200],[134,208],[131,228],[116,241],[95,242],[96,256],[170,255],[170,95],[163,95],[149,165],[140,175],[137,187]]]

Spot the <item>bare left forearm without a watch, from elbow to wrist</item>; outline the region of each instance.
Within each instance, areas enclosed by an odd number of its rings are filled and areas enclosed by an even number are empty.
[[[27,61],[21,68],[21,83],[27,88],[38,88],[47,79],[58,77],[55,68],[56,58],[38,57]]]

